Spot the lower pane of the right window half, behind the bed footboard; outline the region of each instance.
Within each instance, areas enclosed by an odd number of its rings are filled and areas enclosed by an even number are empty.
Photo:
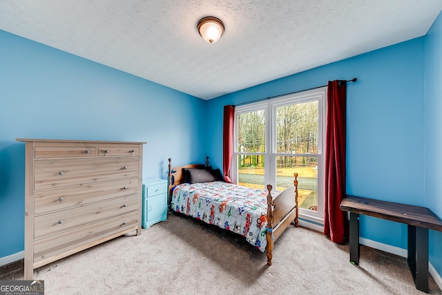
[[[298,173],[298,207],[318,211],[318,158],[276,157],[276,189],[291,187]]]

